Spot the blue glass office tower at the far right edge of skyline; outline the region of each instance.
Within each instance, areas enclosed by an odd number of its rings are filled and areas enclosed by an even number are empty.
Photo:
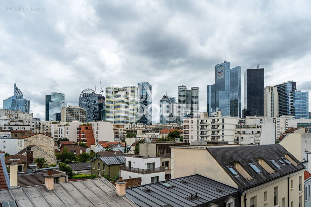
[[[293,112],[296,119],[309,118],[309,92],[295,90],[293,94]]]

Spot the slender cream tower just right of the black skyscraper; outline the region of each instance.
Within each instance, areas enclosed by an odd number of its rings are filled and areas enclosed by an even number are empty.
[[[279,116],[279,93],[276,86],[266,86],[263,89],[263,116]]]

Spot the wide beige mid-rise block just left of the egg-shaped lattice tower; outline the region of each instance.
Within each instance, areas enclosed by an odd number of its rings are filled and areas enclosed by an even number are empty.
[[[80,106],[67,106],[61,109],[62,122],[86,122],[86,109]]]

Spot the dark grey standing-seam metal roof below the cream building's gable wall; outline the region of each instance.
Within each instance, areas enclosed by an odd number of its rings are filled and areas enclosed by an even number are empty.
[[[161,183],[172,186],[166,187]],[[231,197],[230,195],[237,192],[239,190],[234,187],[198,174],[126,189],[128,198],[142,207],[207,206],[214,200]],[[194,198],[195,193],[199,199]],[[191,194],[193,194],[193,200],[189,199]]]

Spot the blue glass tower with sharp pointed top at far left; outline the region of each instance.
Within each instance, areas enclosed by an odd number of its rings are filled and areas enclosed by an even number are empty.
[[[24,99],[24,95],[14,83],[14,96],[3,100],[3,109],[8,110],[21,110],[22,112],[29,113],[30,101]]]

